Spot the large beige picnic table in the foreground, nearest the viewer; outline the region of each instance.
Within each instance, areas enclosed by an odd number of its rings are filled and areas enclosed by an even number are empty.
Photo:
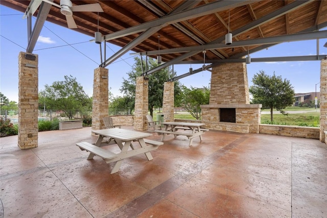
[[[152,160],[153,157],[150,151],[155,150],[158,148],[158,146],[164,144],[160,141],[146,139],[146,137],[152,136],[151,133],[146,132],[137,132],[133,130],[118,128],[93,130],[92,132],[99,135],[96,143],[91,144],[88,142],[79,142],[76,143],[76,146],[78,146],[81,150],[90,152],[87,160],[93,159],[94,156],[97,155],[101,157],[106,163],[116,162],[110,174],[119,171],[122,161],[125,158],[144,153],[148,160]],[[105,137],[109,138],[108,141],[110,143],[103,141]],[[137,141],[141,148],[135,148],[132,144],[132,141]],[[121,149],[120,153],[116,154],[107,149],[101,148],[102,146],[110,145],[113,143],[118,144],[119,148]],[[129,150],[129,148],[131,149]]]

